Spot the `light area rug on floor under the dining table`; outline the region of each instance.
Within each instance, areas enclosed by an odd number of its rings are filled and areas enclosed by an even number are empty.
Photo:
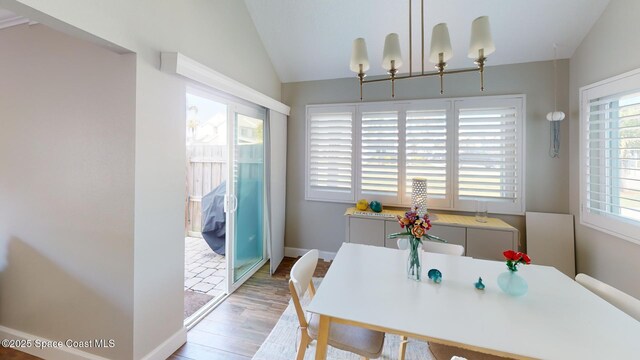
[[[316,286],[320,285],[321,279],[313,279]],[[301,301],[305,307],[309,303],[308,296]],[[267,340],[262,343],[258,352],[253,356],[253,360],[292,360],[296,358],[297,345],[300,341],[300,330],[298,329],[298,317],[296,315],[293,302],[289,301],[289,306],[278,320],[276,326],[271,330]],[[397,335],[387,335],[384,340],[384,348],[379,359],[391,360],[398,358],[400,349],[400,337]],[[316,354],[316,342],[312,342],[307,348],[304,356],[306,359],[314,359]],[[358,355],[338,350],[329,346],[327,351],[328,360],[361,360]],[[409,339],[407,345],[406,360],[436,360],[427,343]],[[448,360],[448,359],[447,359]]]

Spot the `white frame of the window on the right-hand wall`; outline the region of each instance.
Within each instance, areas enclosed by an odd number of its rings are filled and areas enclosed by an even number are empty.
[[[640,244],[637,234],[640,225],[632,222],[616,219],[612,216],[592,213],[587,205],[587,152],[588,152],[588,127],[590,114],[590,101],[607,96],[613,96],[628,91],[640,91],[640,69],[626,72],[590,85],[579,90],[580,121],[579,121],[579,176],[580,176],[580,224],[617,238]],[[604,150],[603,150],[604,151]],[[613,215],[613,214],[612,214]],[[635,237],[634,237],[635,235]]]

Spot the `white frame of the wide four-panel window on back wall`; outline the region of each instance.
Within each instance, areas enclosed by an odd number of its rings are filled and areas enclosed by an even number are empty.
[[[397,111],[398,112],[398,194],[397,199],[384,198],[382,202],[385,206],[391,207],[409,207],[411,206],[411,196],[405,194],[406,192],[406,113],[407,111],[415,110],[446,110],[447,114],[447,196],[446,199],[429,199],[428,207],[434,210],[448,210],[448,211],[475,211],[475,204],[471,204],[470,200],[458,199],[457,194],[457,166],[458,166],[458,147],[457,147],[457,103],[472,102],[476,104],[482,104],[481,107],[492,107],[492,104],[498,104],[496,106],[505,106],[505,101],[518,102],[519,116],[517,121],[519,122],[519,129],[521,132],[518,137],[518,163],[521,164],[519,168],[519,177],[521,179],[521,186],[518,188],[519,203],[513,207],[494,206],[492,202],[489,202],[489,211],[494,214],[508,214],[508,215],[524,215],[525,212],[525,195],[526,195],[526,95],[513,94],[513,95],[497,95],[497,96],[480,96],[480,97],[455,97],[455,98],[443,98],[443,99],[419,99],[419,100],[402,100],[402,101],[375,101],[375,102],[358,102],[358,103],[335,103],[335,104],[310,104],[306,106],[306,119],[305,119],[305,200],[309,201],[322,201],[322,202],[336,202],[336,203],[355,203],[357,199],[364,198],[369,199],[361,193],[361,123],[362,112],[367,111]],[[335,196],[331,196],[327,192],[327,196],[322,194],[310,193],[309,184],[309,122],[310,114],[312,112],[320,112],[322,110],[326,112],[337,112],[336,109],[351,109],[353,111],[352,122],[352,197],[347,199],[336,199]],[[363,110],[364,109],[364,110]]]

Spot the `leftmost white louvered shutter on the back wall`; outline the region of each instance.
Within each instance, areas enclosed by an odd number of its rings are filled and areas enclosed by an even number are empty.
[[[353,107],[309,108],[307,198],[354,201]]]

